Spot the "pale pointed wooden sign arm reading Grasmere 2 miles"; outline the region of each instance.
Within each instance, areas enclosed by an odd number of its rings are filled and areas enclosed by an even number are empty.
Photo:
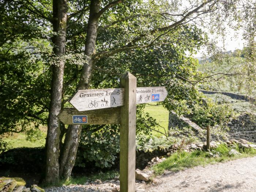
[[[112,108],[123,105],[124,89],[78,90],[69,103],[78,111]]]

